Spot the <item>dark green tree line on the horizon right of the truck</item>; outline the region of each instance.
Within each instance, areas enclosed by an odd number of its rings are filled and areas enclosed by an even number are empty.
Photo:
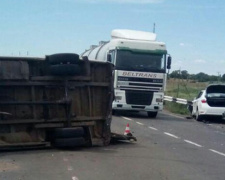
[[[203,72],[200,72],[198,74],[189,74],[186,70],[175,70],[168,74],[169,78],[177,78],[177,79],[189,79],[189,80],[195,80],[199,82],[208,82],[208,81],[223,81],[225,82],[225,74],[218,76],[215,75],[208,75]]]

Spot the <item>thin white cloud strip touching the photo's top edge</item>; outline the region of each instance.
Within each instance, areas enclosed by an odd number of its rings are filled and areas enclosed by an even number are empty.
[[[83,0],[82,2],[90,3],[129,3],[129,4],[151,4],[151,3],[161,3],[164,0]]]

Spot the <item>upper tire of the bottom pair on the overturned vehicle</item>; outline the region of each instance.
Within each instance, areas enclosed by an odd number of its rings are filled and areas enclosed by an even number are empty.
[[[82,127],[57,128],[54,130],[54,138],[77,138],[84,137],[85,131]]]

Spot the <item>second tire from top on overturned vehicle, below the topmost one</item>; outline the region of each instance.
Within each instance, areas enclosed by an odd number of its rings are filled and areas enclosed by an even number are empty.
[[[50,66],[52,75],[74,76],[81,73],[81,69],[77,64],[57,64]]]

